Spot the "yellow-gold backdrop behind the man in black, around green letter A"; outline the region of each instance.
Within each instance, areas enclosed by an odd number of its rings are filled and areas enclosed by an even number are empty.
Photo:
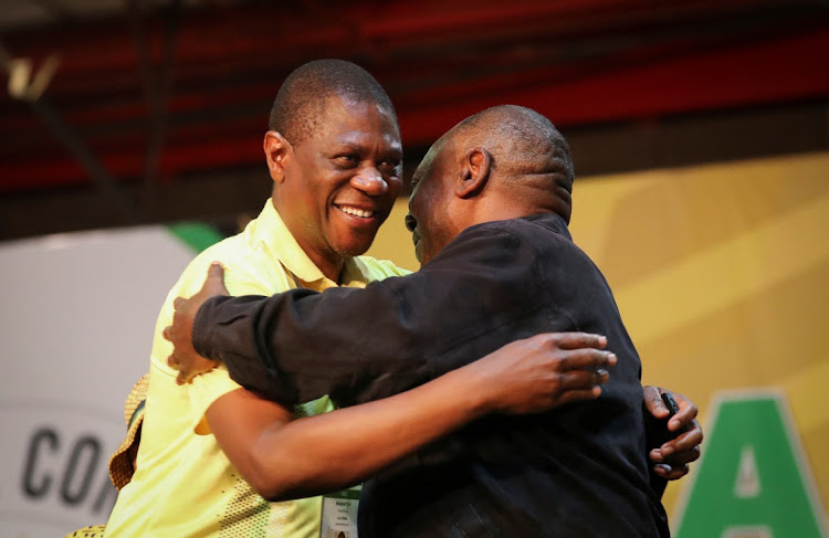
[[[829,511],[829,152],[580,178],[574,200],[643,381],[690,395],[703,425],[718,391],[780,390]],[[369,254],[416,270],[405,214]]]

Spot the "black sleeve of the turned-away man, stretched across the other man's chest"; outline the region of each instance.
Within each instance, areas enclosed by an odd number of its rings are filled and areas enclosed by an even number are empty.
[[[212,298],[197,315],[193,345],[224,361],[237,382],[283,404],[323,394],[360,403],[547,329],[522,326],[543,306],[536,272],[532,249],[483,224],[420,272],[365,289]]]

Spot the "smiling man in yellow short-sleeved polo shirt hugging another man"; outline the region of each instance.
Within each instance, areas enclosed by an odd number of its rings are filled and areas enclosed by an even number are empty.
[[[541,336],[407,393],[308,419],[333,409],[327,398],[288,410],[241,389],[224,368],[177,386],[162,329],[172,299],[198,292],[213,261],[234,295],[405,273],[359,256],[401,184],[399,127],[377,81],[347,62],[306,64],[281,88],[270,128],[272,198],[242,233],[193,260],[158,317],[136,472],[107,537],[321,536],[323,502],[311,495],[357,484],[484,413],[596,398],[615,361],[598,336]]]

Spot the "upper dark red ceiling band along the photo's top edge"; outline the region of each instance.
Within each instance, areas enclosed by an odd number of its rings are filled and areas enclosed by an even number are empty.
[[[176,76],[180,80],[191,72],[198,78],[201,66],[211,75],[223,71],[232,77],[259,64],[271,66],[280,80],[281,70],[319,55],[368,53],[392,59],[431,53],[434,46],[452,53],[471,43],[497,43],[505,35],[570,39],[787,6],[793,6],[791,0],[533,0],[511,4],[406,0],[334,3],[326,6],[323,19],[284,7],[188,11],[177,34]],[[146,24],[150,56],[160,61],[165,21],[148,19]],[[138,59],[126,17],[86,28],[12,35],[6,41],[18,56],[38,60],[61,54],[61,71],[50,88],[53,94],[90,89],[91,82],[137,84]]]

